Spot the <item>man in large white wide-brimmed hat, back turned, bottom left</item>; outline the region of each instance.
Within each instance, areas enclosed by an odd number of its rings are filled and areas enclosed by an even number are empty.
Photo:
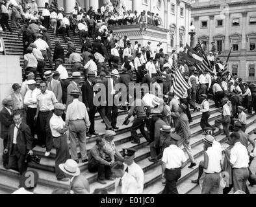
[[[86,177],[81,175],[77,162],[66,160],[65,163],[59,164],[60,170],[70,179],[71,194],[90,194],[90,185]]]

